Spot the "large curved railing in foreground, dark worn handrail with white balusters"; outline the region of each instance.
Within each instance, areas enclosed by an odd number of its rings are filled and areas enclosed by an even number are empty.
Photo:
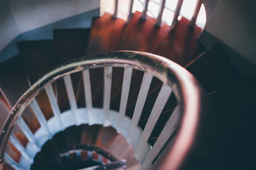
[[[124,68],[119,112],[109,109],[113,67]],[[104,68],[102,108],[95,108],[92,105],[90,84],[90,70],[92,68]],[[129,97],[129,87],[131,86],[132,70],[141,70],[144,75],[133,116],[129,118],[125,115],[125,110]],[[83,75],[86,108],[77,108],[70,78],[70,74],[76,72],[81,72]],[[153,77],[157,77],[163,82],[163,86],[154,102],[147,124],[142,130],[138,127],[138,122]],[[70,103],[70,110],[63,113],[60,112],[52,88],[52,83],[62,78],[65,81]],[[43,90],[47,93],[54,114],[49,120],[45,120],[44,113],[35,98]],[[150,146],[148,144],[150,134],[171,94],[175,95],[177,106],[166,121],[154,146]],[[8,165],[14,169],[29,169],[33,163],[33,157],[54,134],[72,125],[101,124],[104,126],[111,125],[124,135],[134,148],[134,156],[141,162],[141,169],[148,169],[152,165],[159,166],[157,157],[166,153],[172,155],[166,160],[172,162],[170,169],[179,169],[180,165],[187,160],[186,158],[194,146],[195,136],[200,134],[198,127],[201,115],[207,112],[204,105],[205,94],[193,75],[176,63],[161,56],[145,52],[118,51],[79,58],[60,65],[47,73],[20,97],[1,129],[1,166]],[[31,131],[21,116],[28,106],[33,110],[41,126],[35,133]],[[13,134],[16,126],[26,135],[29,141],[26,146],[20,144],[19,137]],[[170,145],[172,147],[164,149]]]

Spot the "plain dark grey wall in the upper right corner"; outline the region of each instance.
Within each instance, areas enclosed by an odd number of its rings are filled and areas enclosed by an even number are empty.
[[[218,0],[213,8],[210,0],[204,1],[206,10],[211,9],[205,31],[256,65],[256,1]]]

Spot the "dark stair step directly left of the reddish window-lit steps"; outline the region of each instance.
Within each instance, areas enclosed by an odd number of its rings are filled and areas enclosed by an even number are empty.
[[[85,56],[90,28],[54,29],[55,65]]]

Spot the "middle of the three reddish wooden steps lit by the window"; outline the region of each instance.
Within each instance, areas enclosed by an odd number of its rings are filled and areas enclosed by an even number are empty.
[[[155,24],[156,19],[147,17],[147,20],[141,20],[141,12],[135,12],[125,29],[118,50],[152,52],[170,31],[167,24],[163,23],[161,27],[156,27]]]

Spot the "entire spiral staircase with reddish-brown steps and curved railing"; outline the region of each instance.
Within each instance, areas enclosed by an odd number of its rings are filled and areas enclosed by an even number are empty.
[[[0,66],[2,169],[218,168],[207,95],[216,102],[243,77],[189,20],[156,26],[141,15],[105,13],[17,44]]]

